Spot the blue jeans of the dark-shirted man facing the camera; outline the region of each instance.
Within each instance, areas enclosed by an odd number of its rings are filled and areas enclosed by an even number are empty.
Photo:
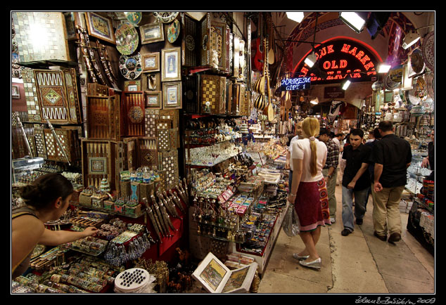
[[[343,186],[343,224],[344,228],[353,231],[355,219],[362,219],[366,212],[365,206],[368,198],[369,188],[364,190],[353,190]],[[353,195],[355,195],[355,212],[353,212]]]

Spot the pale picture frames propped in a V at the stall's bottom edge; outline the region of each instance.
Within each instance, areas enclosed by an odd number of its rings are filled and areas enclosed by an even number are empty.
[[[257,263],[230,270],[212,252],[198,264],[192,277],[211,293],[246,293],[253,282]]]

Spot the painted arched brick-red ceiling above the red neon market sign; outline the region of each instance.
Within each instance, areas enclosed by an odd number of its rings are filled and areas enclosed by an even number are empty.
[[[434,27],[426,26],[435,23],[435,12],[391,12],[383,30],[374,39],[371,38],[367,29],[359,34],[351,30],[339,19],[337,11],[306,11],[300,23],[288,19],[286,12],[272,12],[272,20],[276,27],[276,36],[282,40],[276,43],[286,50],[285,70],[293,70],[295,65],[311,51],[312,41],[318,43],[338,36],[363,41],[364,44],[371,46],[383,58],[383,61],[391,60],[396,65],[400,64],[401,58],[407,58],[407,53],[410,51],[400,48],[404,34],[420,27],[424,27],[418,30],[421,37],[431,32]],[[316,22],[317,28],[314,34]]]

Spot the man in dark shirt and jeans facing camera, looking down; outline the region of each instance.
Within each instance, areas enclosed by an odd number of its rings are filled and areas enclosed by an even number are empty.
[[[369,157],[371,149],[362,144],[364,131],[353,129],[350,132],[350,145],[344,148],[343,159],[345,159],[345,169],[343,174],[343,236],[353,232],[356,223],[362,224],[365,214],[365,205],[370,188],[370,176],[367,172],[369,167]],[[355,214],[353,214],[353,195],[355,195]]]

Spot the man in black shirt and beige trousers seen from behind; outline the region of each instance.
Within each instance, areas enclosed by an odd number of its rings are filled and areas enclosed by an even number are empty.
[[[407,167],[412,161],[409,142],[393,134],[393,123],[380,122],[381,140],[372,150],[375,163],[374,185],[374,235],[389,242],[401,240],[400,200],[407,183]]]

